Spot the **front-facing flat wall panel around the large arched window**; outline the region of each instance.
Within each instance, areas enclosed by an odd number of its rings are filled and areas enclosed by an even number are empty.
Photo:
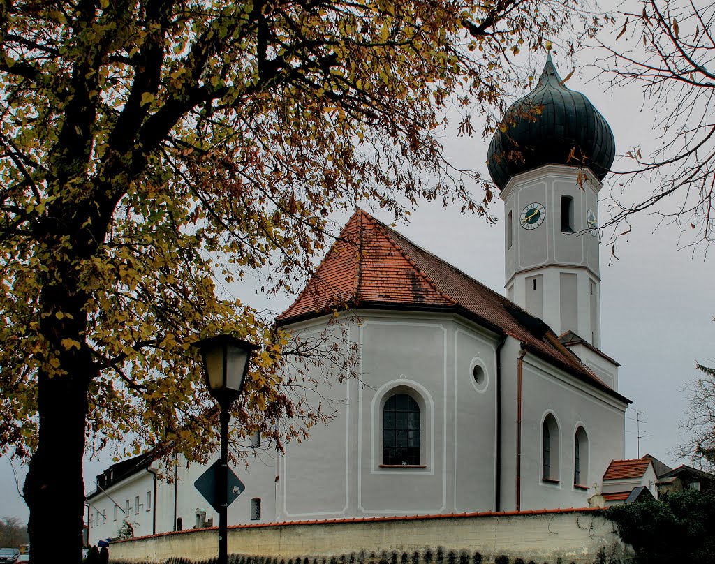
[[[370,315],[360,327],[363,382],[358,402],[358,513],[443,513],[453,434],[447,397],[453,370],[448,347],[453,324],[400,315]],[[389,395],[411,390],[420,405],[420,466],[385,467],[382,407]]]

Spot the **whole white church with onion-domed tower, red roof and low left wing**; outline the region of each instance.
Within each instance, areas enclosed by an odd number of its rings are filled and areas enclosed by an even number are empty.
[[[536,121],[520,117],[530,107]],[[506,206],[507,297],[355,212],[277,323],[310,338],[337,310],[359,377],[321,390],[339,410],[310,440],[280,457],[261,447],[236,469],[247,489],[231,523],[584,507],[602,493],[629,402],[598,348],[593,228],[613,135],[550,56],[505,124],[489,169]],[[506,158],[514,150],[521,159]],[[470,252],[478,260],[477,242]],[[99,479],[90,542],[122,518],[136,535],[217,524],[193,488],[205,467],[179,461],[178,485],[153,470],[150,455]]]

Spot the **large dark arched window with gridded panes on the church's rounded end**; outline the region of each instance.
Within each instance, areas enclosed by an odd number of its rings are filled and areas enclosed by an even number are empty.
[[[383,464],[420,464],[420,406],[407,394],[392,395],[385,402]]]

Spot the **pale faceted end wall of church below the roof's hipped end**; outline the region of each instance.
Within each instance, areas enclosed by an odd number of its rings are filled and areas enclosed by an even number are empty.
[[[493,509],[496,338],[452,315],[360,312],[352,339],[360,381],[321,389],[339,413],[287,445],[278,518]],[[420,406],[420,464],[388,467],[383,407],[400,392]]]

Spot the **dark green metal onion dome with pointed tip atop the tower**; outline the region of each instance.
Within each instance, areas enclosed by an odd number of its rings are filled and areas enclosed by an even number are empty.
[[[563,85],[551,52],[536,88],[511,105],[502,123],[487,160],[500,189],[514,174],[543,164],[586,166],[603,180],[616,155],[606,119],[581,92]]]

